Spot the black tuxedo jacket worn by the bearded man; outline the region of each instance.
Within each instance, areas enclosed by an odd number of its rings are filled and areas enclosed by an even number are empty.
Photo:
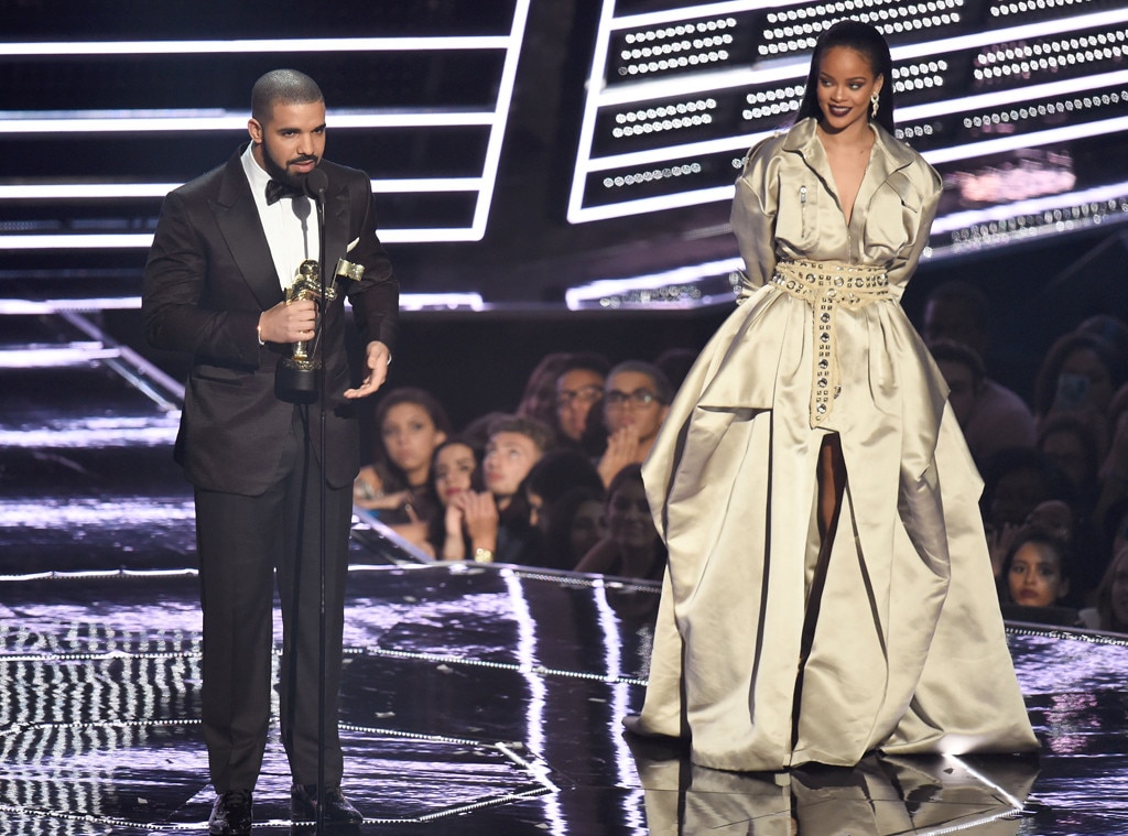
[[[169,193],[146,264],[146,336],[160,349],[188,352],[188,376],[176,460],[196,487],[257,495],[279,464],[293,404],[274,395],[274,369],[289,345],[258,344],[258,316],[282,301],[277,271],[240,161]],[[399,285],[376,235],[368,175],[323,160],[325,254],[363,264],[345,288],[362,345],[395,345]],[[311,213],[310,222],[316,222]],[[328,275],[328,272],[327,272]],[[338,280],[341,289],[344,280]],[[335,487],[356,474],[356,411],[343,393],[354,381],[344,341],[344,294],[325,310],[320,328],[326,391],[326,479]],[[358,377],[362,377],[359,375]],[[319,405],[310,407],[315,455],[320,452]]]

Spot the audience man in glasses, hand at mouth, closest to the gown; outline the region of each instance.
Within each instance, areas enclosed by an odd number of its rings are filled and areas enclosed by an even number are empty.
[[[607,450],[599,460],[605,485],[627,465],[646,459],[672,397],[666,375],[651,363],[628,360],[611,369],[603,387]]]

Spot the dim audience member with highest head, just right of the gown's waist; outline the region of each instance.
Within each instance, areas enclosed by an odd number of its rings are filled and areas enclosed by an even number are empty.
[[[937,344],[958,343],[979,358],[979,382],[966,405],[964,417],[960,419],[957,413],[957,420],[972,457],[980,465],[1006,447],[1034,445],[1034,419],[1030,407],[1019,395],[987,376],[988,317],[987,297],[976,287],[967,282],[945,282],[929,293],[922,327],[934,357]],[[936,360],[940,362],[938,357]],[[944,371],[943,364],[941,371]],[[946,379],[948,372],[944,376]],[[954,408],[955,404],[952,406]]]

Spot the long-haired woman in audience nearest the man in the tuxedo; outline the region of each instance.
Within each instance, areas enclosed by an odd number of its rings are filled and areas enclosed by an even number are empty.
[[[426,523],[438,513],[428,490],[431,457],[450,434],[450,419],[434,395],[403,387],[380,401],[373,423],[373,459],[353,482],[353,504],[423,545]]]

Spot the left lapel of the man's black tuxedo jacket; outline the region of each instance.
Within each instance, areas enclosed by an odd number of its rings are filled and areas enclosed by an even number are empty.
[[[282,301],[282,285],[239,157],[236,153],[223,168],[211,210],[243,280],[266,310]]]

